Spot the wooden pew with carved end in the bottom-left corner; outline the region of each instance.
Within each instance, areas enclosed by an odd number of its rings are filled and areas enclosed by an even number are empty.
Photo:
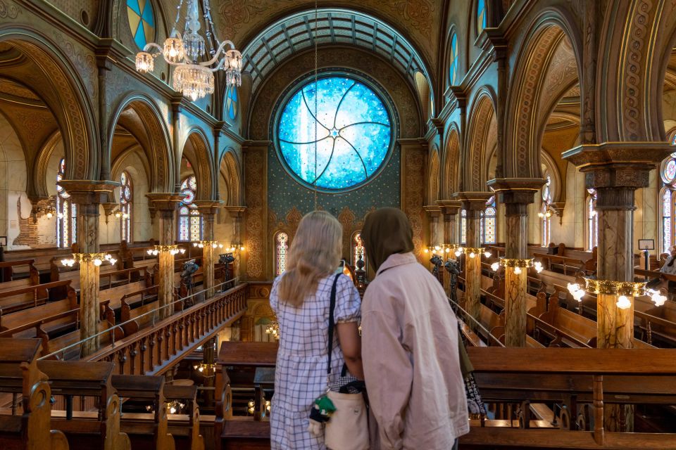
[[[51,389],[37,367],[37,339],[0,339],[0,392],[22,396],[21,411],[0,414],[4,449],[68,450],[68,440],[51,430]]]

